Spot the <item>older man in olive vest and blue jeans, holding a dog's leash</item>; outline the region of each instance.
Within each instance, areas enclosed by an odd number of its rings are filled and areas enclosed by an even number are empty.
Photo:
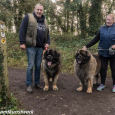
[[[34,12],[27,14],[20,26],[20,48],[26,50],[28,67],[26,75],[27,92],[32,93],[32,76],[34,72],[34,87],[41,89],[40,68],[44,47],[49,47],[50,37],[47,21],[43,15],[44,8],[41,4],[35,6]]]

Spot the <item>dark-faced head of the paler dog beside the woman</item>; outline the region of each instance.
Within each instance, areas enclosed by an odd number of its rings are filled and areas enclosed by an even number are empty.
[[[78,50],[75,59],[79,65],[86,64],[90,59],[90,53],[86,50]]]

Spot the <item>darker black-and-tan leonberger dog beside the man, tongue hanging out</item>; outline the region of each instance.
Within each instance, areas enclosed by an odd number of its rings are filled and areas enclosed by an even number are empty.
[[[44,91],[49,90],[49,82],[53,82],[53,90],[58,90],[57,80],[61,67],[60,53],[54,49],[47,49],[43,54],[42,70],[44,73]]]

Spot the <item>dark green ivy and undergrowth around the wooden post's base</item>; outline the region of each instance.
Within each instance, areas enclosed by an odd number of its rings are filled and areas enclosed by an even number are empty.
[[[5,84],[4,78],[4,55],[0,47],[0,111],[18,110],[18,103],[13,95],[9,94]]]

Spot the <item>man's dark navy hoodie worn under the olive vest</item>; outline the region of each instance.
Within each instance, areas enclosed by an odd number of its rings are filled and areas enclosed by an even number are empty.
[[[36,47],[44,47],[45,44],[45,16],[42,15],[41,18],[38,18],[35,13],[33,13],[34,17],[37,20],[37,36],[36,36]],[[19,40],[20,44],[26,44],[26,33],[27,33],[27,27],[28,27],[28,14],[23,19],[20,31],[19,31]],[[46,43],[50,44],[50,37],[49,37],[49,31],[47,33],[47,41]]]

